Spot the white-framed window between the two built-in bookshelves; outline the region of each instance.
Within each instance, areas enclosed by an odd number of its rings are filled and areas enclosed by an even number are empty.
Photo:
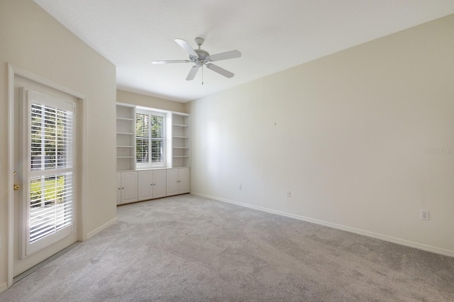
[[[135,113],[135,162],[138,168],[165,167],[165,113]]]

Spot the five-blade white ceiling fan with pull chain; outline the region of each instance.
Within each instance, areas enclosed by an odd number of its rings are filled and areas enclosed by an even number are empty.
[[[200,47],[204,44],[204,38],[195,38],[196,44],[199,45],[199,49],[192,49],[191,45],[182,39],[175,39],[175,42],[181,46],[188,54],[189,60],[165,60],[165,61],[153,61],[153,64],[169,64],[169,63],[194,63],[195,65],[189,70],[189,74],[186,77],[187,81],[191,81],[196,76],[200,67],[204,65],[206,68],[223,75],[224,77],[231,78],[233,73],[226,69],[218,67],[217,65],[211,64],[211,62],[234,59],[241,57],[241,52],[238,50],[231,50],[228,52],[221,52],[216,55],[210,55],[206,50],[202,50]],[[202,82],[203,83],[203,82]]]

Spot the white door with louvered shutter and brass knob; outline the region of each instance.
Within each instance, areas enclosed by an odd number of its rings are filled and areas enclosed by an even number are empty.
[[[15,86],[13,276],[77,241],[77,99],[20,77]]]

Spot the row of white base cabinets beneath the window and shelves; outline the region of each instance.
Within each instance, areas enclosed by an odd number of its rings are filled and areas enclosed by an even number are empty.
[[[189,193],[189,168],[117,172],[116,204]]]

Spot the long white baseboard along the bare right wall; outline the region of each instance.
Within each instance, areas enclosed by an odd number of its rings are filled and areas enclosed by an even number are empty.
[[[226,202],[226,203],[233,203],[233,204],[236,204],[237,206],[244,206],[245,208],[253,208],[254,210],[258,210],[258,211],[263,211],[263,212],[267,212],[267,213],[272,213],[272,214],[277,214],[277,215],[281,215],[281,216],[286,216],[286,217],[289,217],[289,218],[303,220],[303,221],[306,221],[306,222],[309,222],[309,223],[316,223],[318,225],[324,225],[324,226],[327,226],[329,228],[336,228],[338,230],[345,230],[346,232],[355,233],[355,234],[363,235],[363,236],[367,236],[367,237],[372,237],[372,238],[375,238],[375,239],[380,239],[380,240],[384,240],[384,241],[387,241],[387,242],[396,243],[398,245],[404,245],[406,247],[414,247],[416,249],[423,250],[423,251],[426,251],[426,252],[433,252],[433,253],[436,253],[436,254],[439,254],[439,255],[454,257],[454,250],[447,250],[447,249],[443,249],[441,247],[433,247],[431,245],[425,245],[425,244],[419,243],[419,242],[414,242],[414,241],[410,241],[410,240],[404,240],[402,238],[397,238],[397,237],[392,237],[392,236],[388,236],[388,235],[372,233],[372,232],[369,232],[367,230],[360,230],[358,228],[350,228],[350,227],[345,226],[345,225],[338,225],[336,223],[328,223],[328,222],[323,221],[323,220],[313,219],[313,218],[304,217],[304,216],[298,216],[298,215],[285,213],[285,212],[281,212],[281,211],[275,211],[275,210],[272,210],[270,208],[262,208],[261,206],[253,206],[253,205],[250,205],[248,203],[242,203],[242,202],[239,202],[239,201],[232,201],[232,200],[229,200],[229,199],[226,199],[226,198],[219,198],[219,197],[216,197],[216,196],[209,196],[209,195],[206,195],[206,194],[200,194],[200,193],[196,193],[196,192],[191,192],[191,194],[192,195],[196,195],[196,196],[201,196],[201,197],[214,199],[216,201],[223,201],[223,202]]]

